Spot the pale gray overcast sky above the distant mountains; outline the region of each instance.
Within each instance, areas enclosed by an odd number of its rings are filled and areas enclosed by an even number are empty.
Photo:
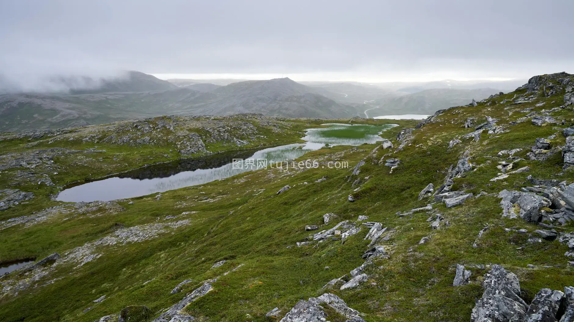
[[[528,78],[574,72],[573,12],[572,0],[0,0],[0,74]]]

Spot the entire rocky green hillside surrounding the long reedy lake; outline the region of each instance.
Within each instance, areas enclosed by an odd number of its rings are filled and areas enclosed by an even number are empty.
[[[383,142],[300,158],[318,167],[111,202],[51,196],[146,164],[297,142],[327,120],[178,116],[3,135],[0,260],[33,262],[0,278],[0,316],[573,321],[573,87],[572,74],[535,76],[397,121]]]

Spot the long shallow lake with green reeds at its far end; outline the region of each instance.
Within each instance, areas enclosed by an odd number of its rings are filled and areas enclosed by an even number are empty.
[[[114,178],[92,181],[61,191],[56,200],[65,202],[110,201],[133,198],[162,191],[196,186],[229,178],[241,172],[269,167],[271,163],[299,158],[309,151],[329,146],[359,146],[381,141],[379,134],[397,126],[327,123],[324,128],[310,128],[302,138],[305,143],[287,144],[263,150],[244,150],[201,158],[178,160],[125,172]],[[234,160],[235,159],[235,160]],[[239,160],[238,160],[239,159]]]

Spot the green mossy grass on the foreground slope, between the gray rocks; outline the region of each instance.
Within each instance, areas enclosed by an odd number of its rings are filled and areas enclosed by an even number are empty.
[[[497,100],[513,96],[511,93]],[[439,116],[442,121],[413,132],[412,144],[392,155],[402,160],[392,174],[389,174],[389,167],[367,160],[360,176],[368,175],[370,179],[357,192],[352,192],[354,188],[351,189],[346,178],[350,174],[348,169],[319,167],[288,173],[263,170],[200,187],[169,191],[163,193],[159,201],[154,196],[132,198],[133,205],[128,204],[130,200],[121,201],[119,203],[126,210],[117,214],[94,218],[78,216],[68,221],[61,221],[60,217],[37,227],[15,226],[3,230],[0,237],[2,245],[14,246],[10,247],[13,249],[11,252],[3,252],[2,258],[7,258],[8,254],[15,256],[18,250],[25,249],[29,249],[24,252],[25,256],[42,256],[103,237],[114,223],[128,227],[154,222],[157,217],[177,215],[182,211],[197,211],[188,216],[192,225],[175,230],[174,234],[105,249],[98,260],[79,269],[68,268],[71,274],[59,271],[58,274],[64,277],[62,280],[21,292],[14,299],[3,300],[0,316],[5,316],[7,321],[93,321],[131,304],[147,305],[152,312],[158,312],[182,299],[201,281],[245,264],[236,272],[220,278],[214,283],[214,292],[201,297],[186,310],[199,320],[266,321],[265,313],[270,309],[278,307],[285,313],[298,300],[323,293],[321,286],[327,281],[362,264],[360,256],[368,244],[363,241],[364,228],[344,245],[340,241],[328,241],[317,248],[294,246],[309,235],[304,231],[304,225],[319,225],[322,215],[327,212],[351,220],[358,215],[368,215],[370,221],[395,227],[393,237],[383,242],[391,250],[390,259],[378,260],[366,270],[369,282],[356,289],[333,291],[350,307],[365,313],[367,321],[468,321],[474,299],[482,294],[479,282],[486,270],[471,268],[471,284],[455,288],[451,285],[457,263],[502,264],[518,274],[527,300],[542,287],[561,289],[573,285],[574,274],[563,256],[567,247],[557,241],[528,244],[525,235],[506,233],[505,227],[533,231],[538,226],[520,218],[502,218],[496,197],[472,198],[452,209],[435,205],[451,225],[434,231],[430,229],[426,221],[428,215],[424,213],[407,217],[395,214],[426,205],[428,200],[417,201],[418,193],[430,182],[440,185],[449,165],[456,163],[465,150],[470,150],[475,157],[473,163],[483,166],[465,178],[457,178],[455,185],[473,193],[498,193],[502,189],[527,186],[525,177],[528,174],[535,178],[560,178],[572,182],[572,171],[563,176],[553,176],[561,169],[559,155],[545,162],[522,161],[519,166],[530,166],[529,173],[511,175],[495,183],[488,181],[497,175],[498,151],[521,147],[524,151],[519,156],[524,156],[534,139],[558,132],[559,128],[565,127],[563,125],[536,127],[527,120],[518,125],[505,125],[510,130],[507,133],[487,135],[484,132],[479,142],[464,139],[463,143],[447,150],[449,140],[470,132],[461,127],[460,121],[466,117],[477,117],[478,123],[486,116],[497,117],[502,119],[498,124],[506,124],[526,114],[518,110],[533,107],[539,101],[547,103],[534,108],[534,111],[561,103],[554,96],[548,99],[540,97],[533,103],[515,105],[510,110],[502,105],[486,106],[483,103],[477,107],[451,109]],[[513,111],[513,115],[509,116],[509,111]],[[563,109],[553,116],[565,119],[571,125],[571,110]],[[408,125],[407,122],[401,123]],[[398,131],[400,128],[393,128],[383,136],[391,139]],[[552,143],[564,144],[563,136],[557,135]],[[310,152],[303,159],[319,159],[320,162],[339,159],[354,166],[375,146],[324,148]],[[374,159],[378,160],[387,152],[379,151]],[[141,163],[142,160],[135,159],[134,162]],[[70,170],[72,173],[76,171]],[[325,175],[327,180],[314,182]],[[69,180],[75,180],[75,175],[70,176]],[[302,182],[309,184],[298,184]],[[276,195],[276,191],[285,184],[294,187]],[[258,189],[265,191],[260,193]],[[350,193],[357,198],[356,202],[347,202]],[[205,197],[215,201],[204,202]],[[9,210],[9,216],[15,217],[36,203],[45,206],[44,202],[47,201],[34,199],[30,205]],[[484,234],[480,247],[472,248],[476,235],[486,224],[492,228]],[[334,223],[329,227],[332,225]],[[572,225],[558,229],[569,231]],[[430,241],[417,246],[424,236],[430,236]],[[220,268],[210,269],[214,262],[222,259],[228,262]],[[527,264],[554,267],[527,269]],[[330,268],[325,269],[325,266]],[[57,276],[50,278],[54,277]],[[169,295],[170,290],[186,278],[193,282],[185,285],[183,292]],[[148,280],[152,281],[143,285]],[[108,296],[106,301],[91,303],[103,294]],[[90,306],[94,308],[82,313]]]

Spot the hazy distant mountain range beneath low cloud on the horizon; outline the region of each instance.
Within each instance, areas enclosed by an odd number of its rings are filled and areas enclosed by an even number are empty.
[[[69,93],[0,95],[0,131],[101,124],[157,115],[262,113],[285,117],[353,117],[420,113],[468,104],[498,89],[430,89],[414,94],[359,83],[309,82],[289,78],[227,85],[197,80],[160,80],[141,72],[94,80],[54,78]],[[230,80],[219,80],[226,83]],[[78,86],[82,84],[82,86]]]

